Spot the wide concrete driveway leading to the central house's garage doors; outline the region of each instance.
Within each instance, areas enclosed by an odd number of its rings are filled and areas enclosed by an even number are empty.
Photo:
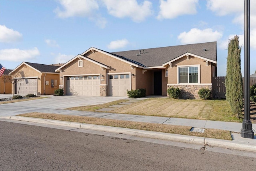
[[[1,98],[5,98],[1,95]],[[56,109],[65,109],[68,107],[96,105],[125,99],[126,97],[99,97],[99,96],[53,96],[45,95],[44,99],[21,101],[0,105],[0,116],[12,116],[29,112],[50,112]]]

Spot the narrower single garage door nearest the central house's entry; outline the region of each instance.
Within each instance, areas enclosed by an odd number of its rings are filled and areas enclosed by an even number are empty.
[[[109,75],[109,96],[127,96],[127,89],[130,90],[130,75]]]

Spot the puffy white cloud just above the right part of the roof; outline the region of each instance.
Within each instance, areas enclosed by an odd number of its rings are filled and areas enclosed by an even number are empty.
[[[183,44],[194,44],[202,42],[214,42],[222,38],[222,33],[213,31],[211,28],[200,30],[198,28],[192,28],[189,32],[182,32],[178,36],[178,39]]]

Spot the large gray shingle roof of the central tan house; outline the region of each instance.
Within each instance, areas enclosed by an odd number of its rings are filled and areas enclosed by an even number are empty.
[[[139,63],[141,66],[162,66],[162,64],[177,58],[178,56],[189,52],[204,58],[217,61],[217,42],[207,42],[199,44],[188,44],[180,46],[168,46],[162,48],[150,48],[141,50],[140,55],[139,50],[129,50],[123,52],[112,52],[110,54],[116,55],[119,58],[128,58],[134,62]],[[204,51],[204,49],[206,49]],[[109,52],[108,52],[109,53]]]

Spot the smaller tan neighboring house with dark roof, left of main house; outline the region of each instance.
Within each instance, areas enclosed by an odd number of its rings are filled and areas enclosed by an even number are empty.
[[[54,94],[59,88],[59,73],[55,70],[59,66],[22,62],[10,75],[16,80],[12,93],[29,94]]]

